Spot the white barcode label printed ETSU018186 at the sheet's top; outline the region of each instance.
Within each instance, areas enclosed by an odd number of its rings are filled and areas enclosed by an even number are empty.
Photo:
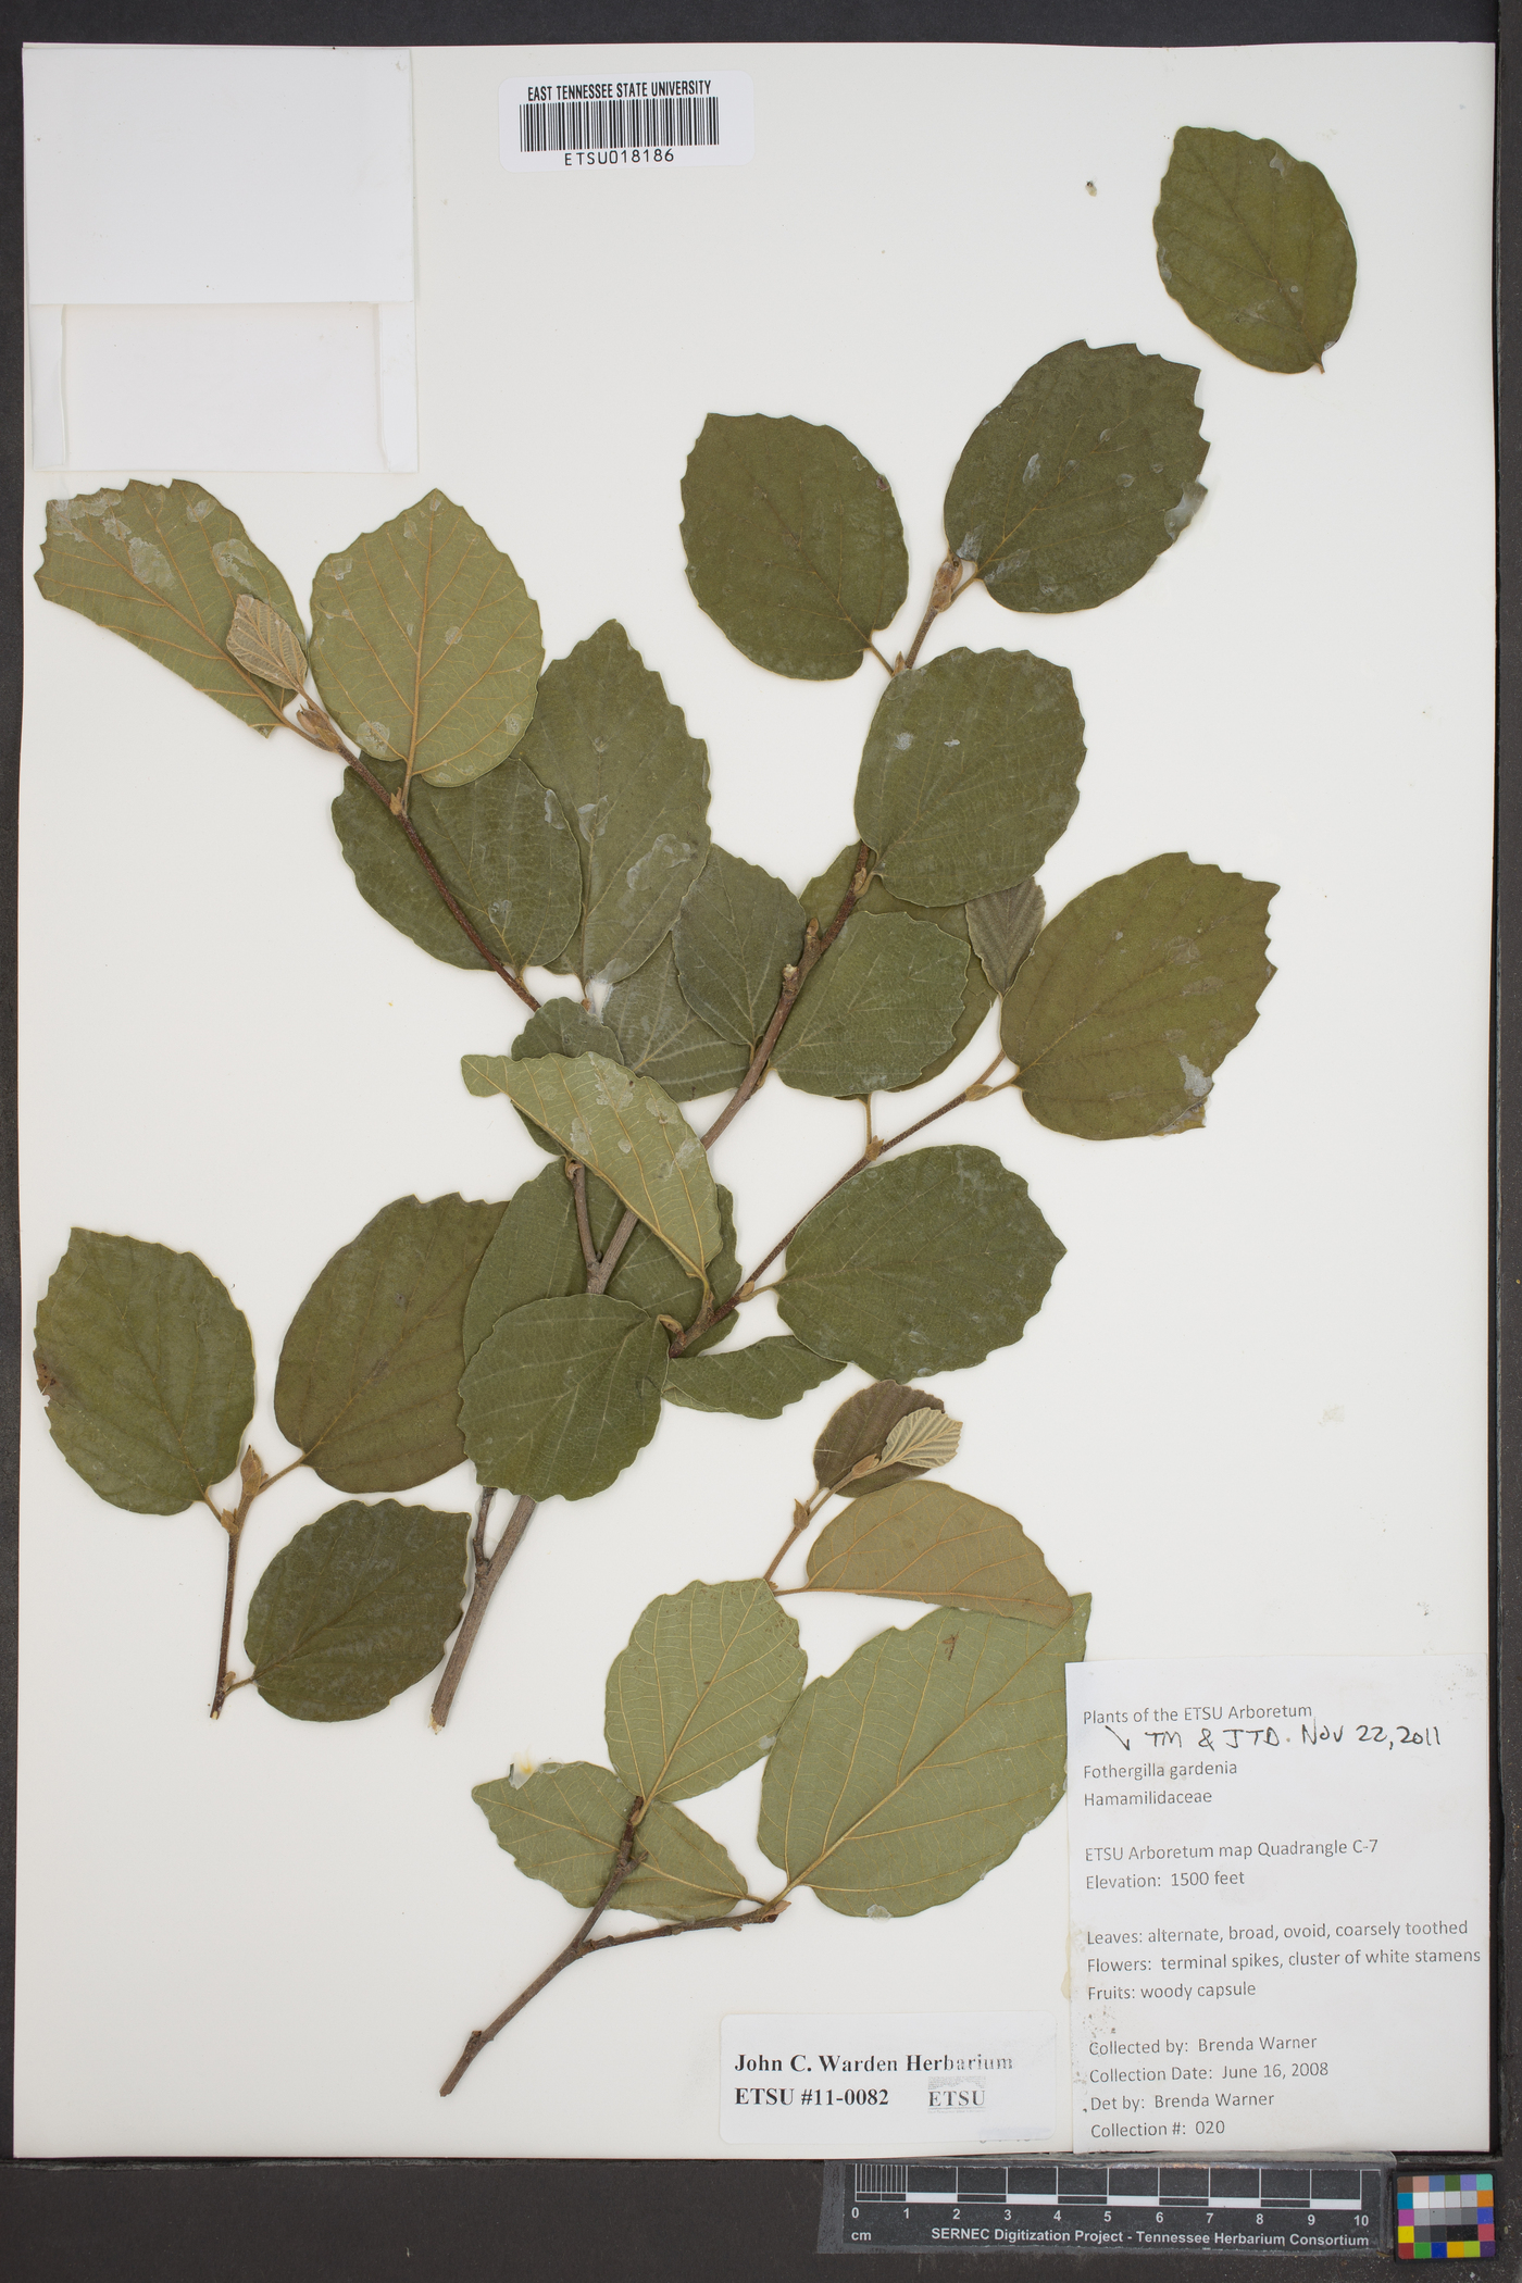
[[[502,82],[500,137],[511,174],[744,167],[753,148],[751,75],[545,68],[539,80]]]

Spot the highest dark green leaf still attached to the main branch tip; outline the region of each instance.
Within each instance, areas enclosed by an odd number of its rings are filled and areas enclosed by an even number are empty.
[[[947,491],[947,546],[995,603],[1093,610],[1152,568],[1205,498],[1198,379],[1134,345],[1070,340],[979,420]]]

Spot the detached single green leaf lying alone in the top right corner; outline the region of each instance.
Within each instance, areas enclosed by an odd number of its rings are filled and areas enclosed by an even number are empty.
[[[1152,233],[1184,315],[1260,372],[1305,372],[1342,338],[1358,256],[1310,160],[1266,139],[1180,128]]]

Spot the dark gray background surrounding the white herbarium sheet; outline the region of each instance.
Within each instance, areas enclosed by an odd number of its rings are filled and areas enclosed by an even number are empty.
[[[16,1737],[16,1406],[30,1388],[21,1363],[14,1160],[14,1021],[16,1021],[16,758],[21,731],[21,470],[23,470],[23,192],[21,192],[21,46],[23,41],[183,41],[272,46],[472,46],[511,41],[1038,41],[1066,46],[1200,48],[1262,41],[1497,39],[1492,0],[956,0],[924,7],[910,0],[751,0],[746,7],[650,5],[650,0],[265,0],[240,14],[189,0],[137,0],[130,14],[103,0],[34,0],[0,7],[0,532],[11,578],[0,596],[0,1039],[5,1041],[7,1116],[0,1121],[0,1404],[7,1422],[0,1473],[0,1703],[7,1744],[0,1756],[0,2043],[11,2050],[14,1957],[14,1737]],[[1497,829],[1497,1283],[1495,1381],[1497,1530],[1495,1530],[1495,1717],[1497,1717],[1497,1931],[1499,1959],[1522,1961],[1522,1881],[1506,1879],[1522,1820],[1522,1637],[1506,1646],[1508,1605],[1522,1607],[1522,1514],[1508,1468],[1508,1427],[1522,1434],[1522,1240],[1506,1228],[1508,1183],[1522,1183],[1522,1139],[1508,1130],[1508,1080],[1522,1089],[1522,1009],[1506,993],[1508,952],[1522,936],[1522,420],[1508,379],[1506,345],[1522,342],[1522,0],[1499,5],[1497,110],[1497,409],[1499,409],[1499,829]],[[1511,228],[1508,228],[1511,224]],[[1520,352],[1522,354],[1522,352]],[[1417,468],[1431,466],[1431,441],[1412,436],[1410,514],[1419,523]],[[1412,534],[1415,537],[1415,534]],[[1412,546],[1412,562],[1417,548]],[[75,915],[89,927],[89,915]],[[1422,957],[1426,915],[1408,913],[1396,957]],[[1517,998],[1522,986],[1513,984]],[[32,1009],[32,1021],[39,1021]],[[1422,1066],[1415,1066],[1419,1082]],[[1371,1135],[1371,1142],[1376,1137]],[[1390,1233],[1401,1242],[1401,1231]],[[1515,1256],[1515,1258],[1513,1258]],[[1513,1301],[1513,1294],[1520,1299]],[[1440,1559],[1440,1550],[1433,1550]],[[1515,1662],[1513,1662],[1515,1660]],[[59,1673],[59,1687],[68,1676]],[[112,1865],[100,1863],[100,1911],[112,1906]],[[459,1929],[461,1941],[468,1929]],[[1506,1941],[1508,1938],[1508,1941]],[[240,1973],[240,1961],[228,1961]],[[1497,2212],[1501,2242],[1495,2276],[1522,2274],[1522,2162],[1513,2180],[1506,2151],[1522,2157],[1517,2128],[1515,1993],[1497,1963],[1497,2084],[1492,2151],[1499,2157]],[[1511,2004],[1508,2004],[1511,1995]],[[214,2025],[210,2025],[214,2032]],[[616,2016],[609,2018],[609,2066],[616,2066]],[[78,2068],[91,2066],[89,2050]],[[237,2055],[226,2055],[237,2071]],[[0,2082],[5,2148],[11,2146],[9,2066]],[[1424,2169],[1426,2151],[1403,2151]],[[1472,2151],[1470,2157],[1483,2157]],[[1456,2162],[1454,2151],[1442,2162]],[[815,2253],[821,2164],[584,2164],[584,2162],[192,2162],[192,2164],[18,2164],[0,2160],[0,2267],[16,2283],[539,2283],[561,2276],[609,2276],[616,2283],[794,2283],[828,2276]],[[1127,2265],[1130,2262],[1130,2265]],[[1066,2253],[1011,2251],[936,2256],[933,2283],[1020,2272],[1161,2276],[1168,2267],[1212,2283],[1289,2274],[1330,2278],[1367,2272],[1371,2260],[1257,2258],[1205,2253]],[[858,2269],[851,2269],[858,2274]],[[892,2262],[892,2278],[906,2276]],[[915,2265],[913,2272],[920,2272]]]

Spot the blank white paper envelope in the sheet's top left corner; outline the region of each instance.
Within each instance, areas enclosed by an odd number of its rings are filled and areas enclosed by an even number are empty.
[[[406,48],[27,48],[32,466],[418,466]]]

